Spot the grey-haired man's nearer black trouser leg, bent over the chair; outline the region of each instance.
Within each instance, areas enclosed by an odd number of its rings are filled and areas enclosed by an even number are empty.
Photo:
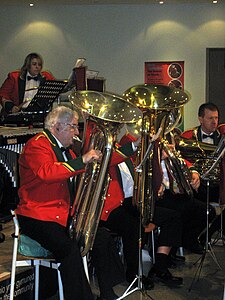
[[[93,300],[77,243],[58,223],[40,221],[18,215],[24,234],[51,251],[60,265],[65,300]]]

